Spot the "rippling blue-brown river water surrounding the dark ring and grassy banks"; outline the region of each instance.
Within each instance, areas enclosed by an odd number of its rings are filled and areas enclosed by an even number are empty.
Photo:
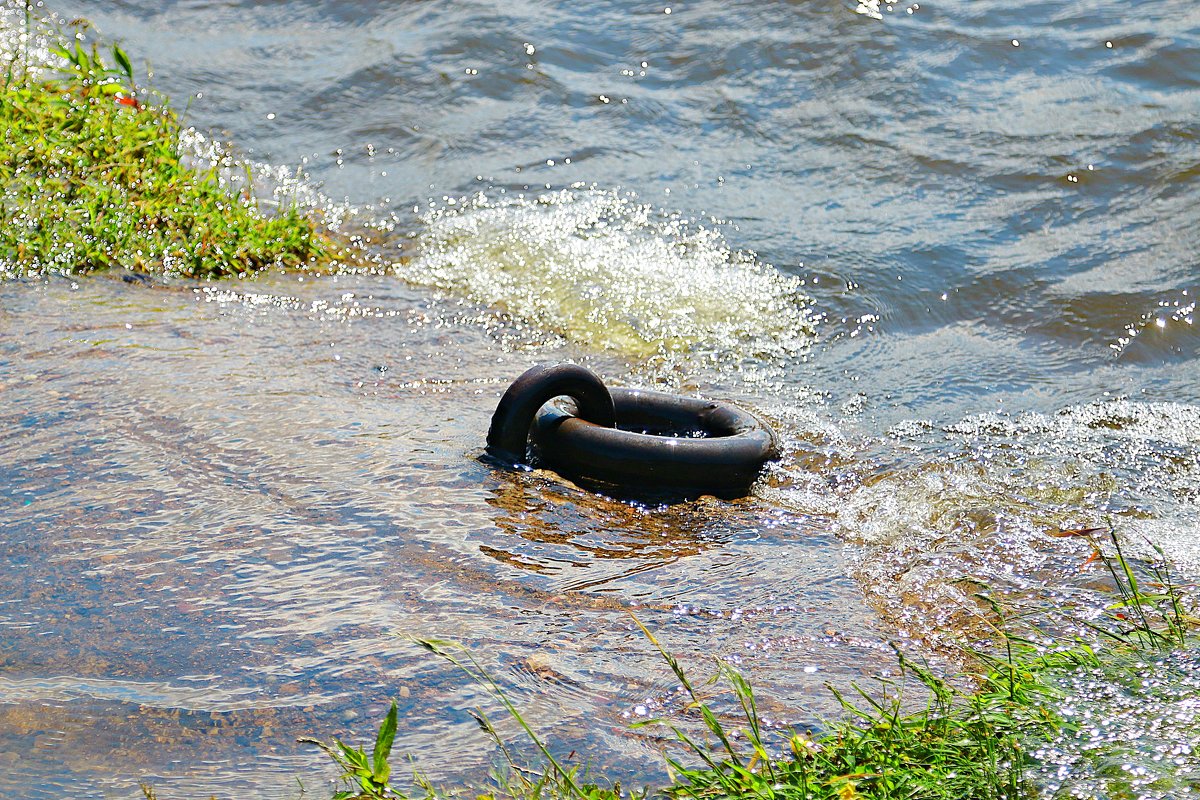
[[[391,698],[398,751],[478,780],[494,704],[413,636],[653,781],[629,723],[678,698],[631,610],[810,724],[889,642],[971,636],[968,578],[1086,602],[1049,530],[1200,577],[1194,2],[46,11],[377,269],[0,283],[2,796],[322,796],[295,738]],[[665,507],[479,461],[557,360],[752,408],[785,457]]]

